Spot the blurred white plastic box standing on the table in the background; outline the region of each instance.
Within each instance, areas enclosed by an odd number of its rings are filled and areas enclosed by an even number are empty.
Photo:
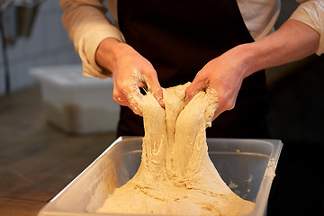
[[[116,130],[120,107],[112,99],[112,78],[82,75],[81,65],[33,67],[49,122],[69,133]]]

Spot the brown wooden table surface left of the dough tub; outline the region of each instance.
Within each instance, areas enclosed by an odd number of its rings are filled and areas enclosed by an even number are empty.
[[[114,139],[50,126],[39,86],[0,97],[0,215],[37,215]]]

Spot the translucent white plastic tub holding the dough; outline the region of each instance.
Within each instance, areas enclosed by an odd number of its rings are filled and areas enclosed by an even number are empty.
[[[256,203],[248,216],[265,215],[282,142],[275,139],[207,139],[207,143],[211,161],[225,183],[240,197]],[[40,211],[39,216],[114,215],[89,213],[85,208],[96,188],[102,190],[103,199],[98,202],[98,206],[101,206],[114,188],[125,184],[136,174],[141,144],[141,138],[117,139],[58,193]]]

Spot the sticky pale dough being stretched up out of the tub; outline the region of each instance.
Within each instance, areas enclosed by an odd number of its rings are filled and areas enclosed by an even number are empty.
[[[217,98],[199,92],[184,103],[186,85],[164,90],[165,109],[143,97],[145,137],[141,164],[97,212],[160,215],[242,215],[253,202],[233,193],[208,156],[205,129]]]

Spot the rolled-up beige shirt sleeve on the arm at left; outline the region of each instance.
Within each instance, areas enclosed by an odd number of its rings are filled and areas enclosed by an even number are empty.
[[[60,5],[64,10],[62,23],[82,60],[84,76],[112,76],[110,71],[96,64],[95,51],[105,38],[113,37],[121,41],[124,38],[105,16],[107,8],[103,1],[60,0]]]

